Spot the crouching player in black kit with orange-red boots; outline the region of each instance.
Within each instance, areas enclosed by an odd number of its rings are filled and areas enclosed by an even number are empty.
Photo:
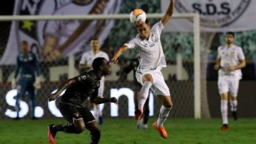
[[[48,96],[49,101],[53,101],[66,89],[58,104],[62,116],[70,122],[49,125],[48,137],[51,144],[54,144],[57,132],[80,134],[85,128],[91,132],[91,144],[99,142],[100,129],[95,117],[86,107],[87,98],[90,97],[92,103],[98,104],[117,103],[117,99],[98,97],[100,79],[110,74],[110,63],[105,58],[96,58],[92,65],[93,70],[68,79],[54,94]]]

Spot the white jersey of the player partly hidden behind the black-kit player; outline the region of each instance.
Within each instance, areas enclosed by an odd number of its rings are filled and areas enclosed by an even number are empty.
[[[108,57],[108,54],[106,54],[106,52],[103,51],[99,51],[98,53],[94,53],[93,50],[90,50],[88,52],[83,53],[83,56],[81,57],[80,60],[80,64],[84,64],[84,65],[91,65],[93,63],[93,60],[95,60],[95,58],[106,58],[107,61],[110,61],[110,58]]]

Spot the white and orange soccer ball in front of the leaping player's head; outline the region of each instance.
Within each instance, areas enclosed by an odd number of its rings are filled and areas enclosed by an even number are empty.
[[[131,23],[141,26],[146,21],[146,12],[142,9],[134,9],[130,14]]]

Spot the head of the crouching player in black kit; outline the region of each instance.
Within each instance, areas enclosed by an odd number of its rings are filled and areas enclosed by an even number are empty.
[[[93,69],[96,71],[102,71],[103,75],[110,75],[110,63],[106,60],[106,58],[95,58],[93,60]]]

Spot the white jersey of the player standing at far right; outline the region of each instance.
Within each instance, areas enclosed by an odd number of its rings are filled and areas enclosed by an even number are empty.
[[[242,79],[241,69],[228,71],[226,67],[238,65],[240,60],[244,60],[244,52],[241,47],[233,45],[230,48],[227,46],[219,46],[218,58],[221,58],[221,69],[219,69],[219,77],[234,77],[235,79]]]

